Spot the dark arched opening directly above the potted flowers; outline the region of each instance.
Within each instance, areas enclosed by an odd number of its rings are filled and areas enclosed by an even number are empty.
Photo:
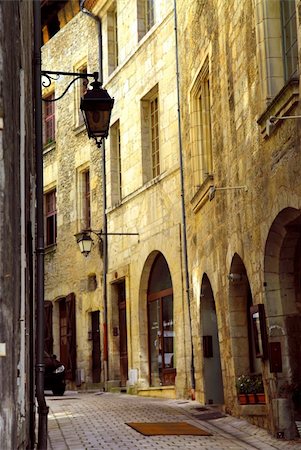
[[[250,307],[252,292],[245,265],[235,253],[229,278],[229,312],[232,354],[235,375],[261,374],[261,359],[256,357],[254,328]]]

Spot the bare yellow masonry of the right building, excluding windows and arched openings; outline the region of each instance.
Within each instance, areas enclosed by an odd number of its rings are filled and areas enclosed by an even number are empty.
[[[274,278],[267,274],[268,233],[279,213],[283,223],[289,223],[291,219],[286,208],[294,208],[294,214],[298,216],[301,207],[299,121],[279,121],[274,133],[270,137],[266,134],[266,120],[270,116],[300,114],[298,79],[294,85],[283,88],[282,59],[279,58],[281,39],[279,36],[276,39],[274,34],[267,43],[264,35],[276,29],[272,25],[276,23],[278,3],[177,1],[196,392],[197,399],[203,402],[205,362],[200,330],[202,279],[206,274],[216,307],[225,407],[233,414],[244,414],[245,411],[237,404],[235,389],[235,377],[242,370],[242,329],[246,322],[245,312],[238,312],[238,305],[245,296],[245,285],[233,286],[228,275],[235,268],[237,254],[243,262],[240,269],[244,267],[244,278],[249,282],[253,303],[265,304],[268,338],[273,341],[273,330],[280,324],[272,311],[273,298],[278,302],[275,290],[276,272],[280,266],[275,265]],[[300,7],[300,2],[296,3]],[[267,53],[273,49],[275,59],[271,59],[272,53]],[[194,118],[190,98],[206,57],[209,58],[213,173],[207,182],[200,182],[196,187],[191,183]],[[274,64],[269,67],[269,76],[267,64]],[[210,186],[217,188],[211,201]],[[231,189],[235,187],[242,188]],[[285,229],[280,231],[280,221],[274,232],[283,233],[284,237]],[[274,246],[271,254],[276,255],[277,251]],[[285,311],[285,306],[283,308]],[[241,328],[237,326],[238,321]],[[281,379],[289,376],[290,365],[287,343],[281,336],[274,338],[277,339],[282,343],[283,372],[278,375]],[[271,397],[277,396],[273,384],[275,377],[269,372],[267,360],[257,362],[271,401]],[[255,423],[274,430],[269,405],[267,410],[268,416],[260,408],[250,415]]]

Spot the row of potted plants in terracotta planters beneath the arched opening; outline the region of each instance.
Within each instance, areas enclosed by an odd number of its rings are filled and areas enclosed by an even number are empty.
[[[261,375],[240,375],[236,380],[239,403],[265,404],[265,394]]]

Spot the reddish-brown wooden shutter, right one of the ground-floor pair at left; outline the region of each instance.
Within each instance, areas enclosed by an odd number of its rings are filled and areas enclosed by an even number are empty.
[[[71,293],[66,297],[66,319],[67,319],[67,369],[66,378],[75,380],[76,371],[76,318],[75,318],[75,295]]]

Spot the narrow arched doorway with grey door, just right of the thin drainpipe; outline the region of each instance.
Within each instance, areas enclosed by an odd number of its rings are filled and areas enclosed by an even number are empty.
[[[206,274],[203,276],[201,289],[201,335],[203,340],[205,404],[223,404],[224,388],[215,301]]]

